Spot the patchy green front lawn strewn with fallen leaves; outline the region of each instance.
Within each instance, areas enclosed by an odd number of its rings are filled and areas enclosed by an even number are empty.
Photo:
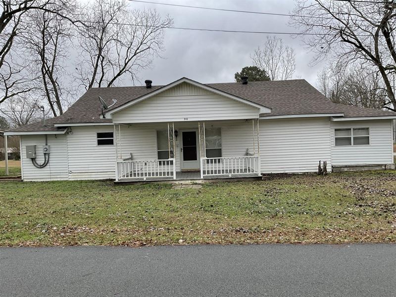
[[[396,242],[396,171],[263,182],[2,183],[0,245]]]

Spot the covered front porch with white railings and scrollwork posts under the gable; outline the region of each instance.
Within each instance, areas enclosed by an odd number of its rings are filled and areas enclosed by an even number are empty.
[[[260,176],[256,119],[127,126],[114,125],[116,182],[192,181]],[[156,139],[153,141],[152,138]],[[131,141],[152,145],[139,148],[139,151],[131,151],[131,146],[128,146],[125,151],[125,144]],[[157,158],[141,157],[148,154],[155,154]],[[168,158],[160,158],[163,156]]]

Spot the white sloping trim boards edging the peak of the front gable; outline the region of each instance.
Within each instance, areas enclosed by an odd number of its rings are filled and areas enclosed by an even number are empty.
[[[111,118],[111,115],[113,113],[116,113],[117,111],[120,111],[120,110],[122,110],[124,108],[127,108],[129,106],[137,104],[137,103],[139,103],[139,102],[141,102],[141,101],[143,101],[145,99],[148,99],[148,98],[151,98],[151,97],[153,97],[155,95],[158,95],[158,94],[160,94],[160,93],[162,93],[162,92],[164,92],[166,90],[169,90],[169,89],[171,89],[171,88],[173,88],[173,87],[175,87],[175,86],[177,86],[179,84],[182,84],[182,83],[189,83],[189,84],[191,84],[193,86],[196,86],[198,88],[202,88],[202,89],[204,89],[206,91],[215,93],[217,95],[224,96],[226,98],[233,99],[233,100],[245,103],[247,105],[253,106],[253,107],[259,109],[259,113],[270,113],[271,112],[271,108],[269,108],[267,106],[263,106],[263,105],[260,105],[260,104],[257,104],[257,103],[253,103],[253,102],[251,102],[249,100],[246,100],[246,99],[243,99],[243,98],[240,98],[240,97],[225,93],[223,91],[217,90],[217,89],[212,88],[212,87],[208,87],[208,86],[206,86],[204,84],[201,84],[201,83],[198,83],[198,82],[193,81],[191,79],[188,79],[186,77],[183,77],[183,78],[181,78],[181,79],[179,79],[177,81],[174,81],[173,83],[170,83],[169,85],[161,87],[161,88],[159,88],[159,89],[157,89],[157,90],[155,90],[153,92],[150,92],[150,93],[148,93],[148,94],[146,94],[144,96],[141,96],[140,98],[134,99],[132,101],[124,103],[124,104],[122,104],[122,105],[120,105],[118,107],[115,107],[114,109],[111,109],[111,110],[105,112],[105,114],[104,114],[105,118]]]

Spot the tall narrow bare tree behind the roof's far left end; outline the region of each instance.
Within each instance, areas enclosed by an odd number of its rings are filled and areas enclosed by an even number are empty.
[[[63,113],[63,97],[69,91],[63,65],[69,58],[71,23],[42,10],[30,12],[27,20],[30,26],[22,34],[20,45],[25,49],[31,76],[40,73],[34,79],[35,94],[44,98],[53,116],[57,116]]]

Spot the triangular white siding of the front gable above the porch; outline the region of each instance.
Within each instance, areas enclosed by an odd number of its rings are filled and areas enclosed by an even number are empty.
[[[259,108],[187,83],[112,115],[114,123],[183,122],[258,118]]]

